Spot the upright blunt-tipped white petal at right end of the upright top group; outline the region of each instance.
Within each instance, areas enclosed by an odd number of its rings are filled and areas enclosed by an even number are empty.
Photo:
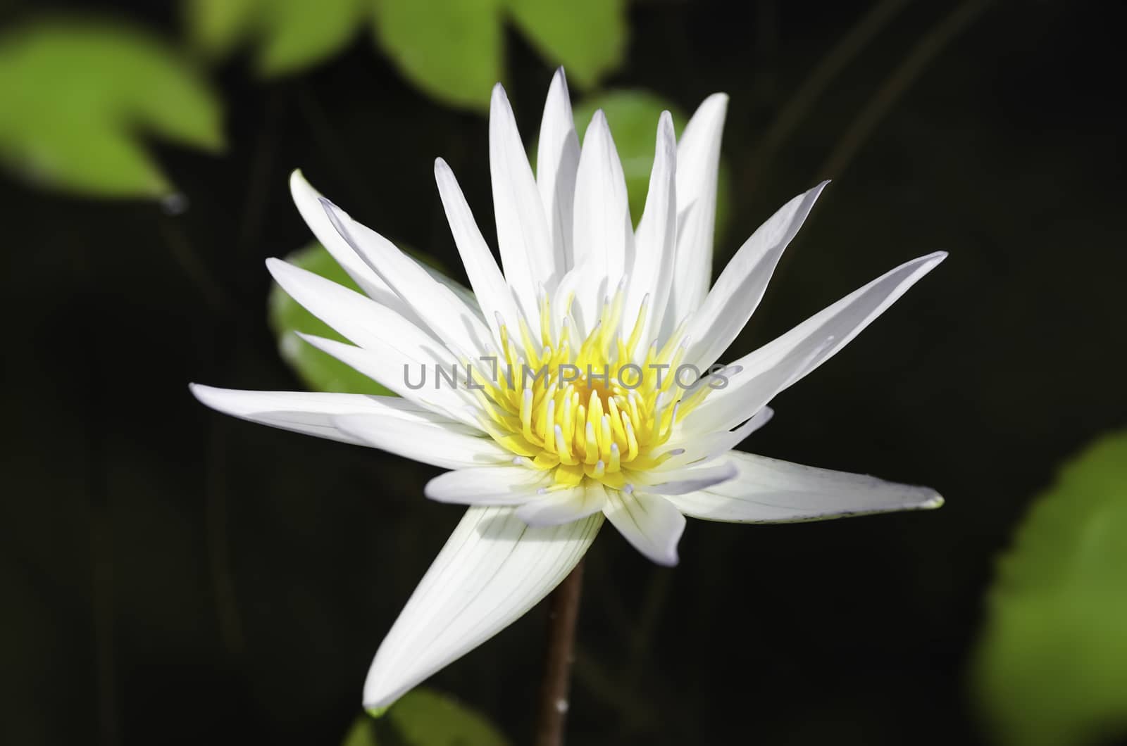
[[[712,278],[712,234],[720,135],[728,96],[712,94],[685,125],[677,145],[677,261],[668,329],[696,310]]]

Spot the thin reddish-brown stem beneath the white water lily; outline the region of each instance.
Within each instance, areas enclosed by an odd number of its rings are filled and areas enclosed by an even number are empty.
[[[567,721],[571,661],[575,660],[575,623],[583,592],[583,560],[548,598],[548,650],[540,683],[536,746],[562,746]]]

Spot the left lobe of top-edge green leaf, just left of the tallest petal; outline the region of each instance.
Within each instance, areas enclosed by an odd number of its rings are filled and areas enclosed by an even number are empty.
[[[400,71],[429,96],[488,110],[502,79],[500,0],[375,0],[375,37]]]

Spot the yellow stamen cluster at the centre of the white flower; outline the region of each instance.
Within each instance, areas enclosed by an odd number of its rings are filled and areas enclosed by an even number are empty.
[[[621,288],[613,301],[604,301],[598,322],[580,340],[568,313],[570,302],[554,334],[551,304],[542,295],[540,345],[529,326],[520,325],[531,359],[521,354],[508,327],[500,326],[497,375],[478,391],[481,424],[535,468],[553,470],[557,486],[575,486],[586,477],[628,488],[631,471],[650,469],[677,453],[662,446],[678,417],[709,389],[686,390],[682,387],[689,382],[676,380],[685,350],[681,334],[660,349],[655,343],[644,357],[635,356],[646,326],[646,303],[623,339],[623,301]]]

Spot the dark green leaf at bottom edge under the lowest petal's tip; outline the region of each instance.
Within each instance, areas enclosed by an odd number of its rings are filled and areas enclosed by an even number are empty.
[[[387,734],[384,722],[393,734]],[[425,687],[411,690],[391,705],[384,722],[358,717],[341,746],[508,746],[482,716]]]

